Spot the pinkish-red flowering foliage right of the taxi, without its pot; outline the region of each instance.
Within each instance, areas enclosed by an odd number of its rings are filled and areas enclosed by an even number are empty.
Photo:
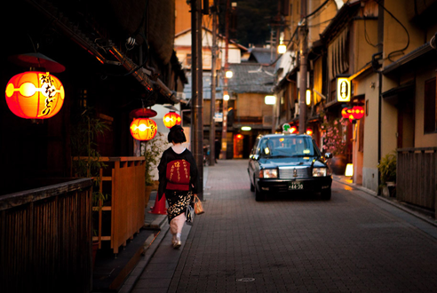
[[[323,115],[323,151],[332,155],[346,154],[346,125],[347,120],[345,118],[337,118],[328,122],[326,115]]]

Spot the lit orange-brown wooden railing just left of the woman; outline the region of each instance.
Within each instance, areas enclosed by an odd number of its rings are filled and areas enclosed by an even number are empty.
[[[97,235],[94,241],[110,242],[110,248],[118,253],[120,246],[126,246],[134,234],[144,226],[146,183],[146,164],[141,157],[100,157],[99,161],[107,164],[100,169],[100,192],[107,194],[107,204],[99,201],[93,207],[98,213]],[[110,213],[110,223],[105,220],[105,213]]]

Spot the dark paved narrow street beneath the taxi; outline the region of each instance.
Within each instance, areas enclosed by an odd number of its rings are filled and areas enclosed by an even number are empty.
[[[132,292],[436,292],[437,228],[338,182],[256,202],[247,161],[208,169],[205,214],[170,233]],[[189,234],[188,234],[189,232]]]

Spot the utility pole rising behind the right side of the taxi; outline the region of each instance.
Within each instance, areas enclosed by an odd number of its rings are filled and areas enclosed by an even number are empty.
[[[307,47],[306,38],[306,0],[300,0],[300,24],[299,24],[299,133],[306,133],[306,72],[307,72]]]

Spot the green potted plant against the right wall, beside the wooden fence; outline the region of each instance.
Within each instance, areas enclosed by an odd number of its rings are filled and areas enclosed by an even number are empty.
[[[381,180],[382,194],[385,196],[395,196],[396,187],[396,152],[385,154],[377,164],[379,178]]]

